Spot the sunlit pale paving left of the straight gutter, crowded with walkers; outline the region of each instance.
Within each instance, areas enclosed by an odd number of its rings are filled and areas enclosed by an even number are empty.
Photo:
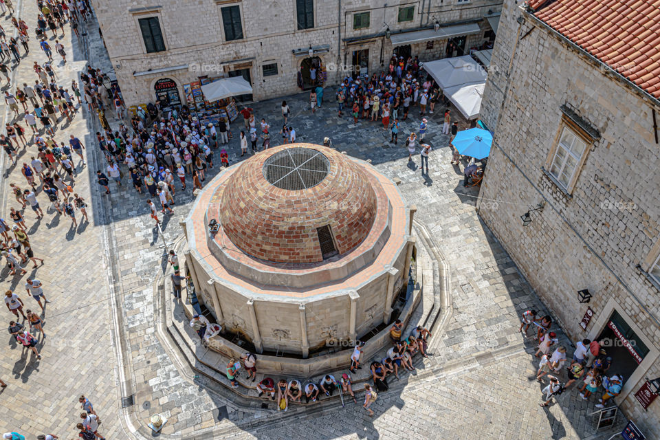
[[[39,50],[38,41],[34,39],[36,1],[18,1],[14,5],[17,17],[23,18],[28,24],[32,39],[28,56],[12,72],[12,91],[16,84],[34,84],[36,75],[32,63],[47,61],[45,54]],[[8,36],[11,35],[14,27],[8,14],[0,16],[0,23]],[[62,38],[58,34],[58,39],[66,46],[68,62],[63,65],[61,58],[55,55],[54,65],[58,84],[70,90],[71,80],[85,66],[85,61],[76,52],[78,43],[71,41],[68,26],[65,32],[66,36]],[[76,40],[76,37],[73,36],[73,39]],[[49,42],[54,45],[54,39]],[[20,52],[23,53],[22,47]],[[7,89],[3,87],[3,91]],[[4,104],[2,107],[0,114],[9,122],[13,112]],[[30,131],[24,121],[20,123]],[[91,144],[87,124],[80,111],[71,124],[67,124],[64,119],[58,126],[55,140],[65,141],[70,133],[75,133],[85,146]],[[8,168],[9,159],[3,153],[1,212],[5,219],[9,219],[10,207],[21,208],[8,185],[13,182],[21,188],[28,187],[21,175],[21,164],[30,162],[31,155],[36,156],[36,146],[28,146],[27,151],[19,150],[19,155],[19,165]],[[32,263],[29,263],[26,266],[28,274],[19,276],[17,272],[17,276],[10,276],[3,261],[0,272],[3,292],[9,288],[15,289],[25,303],[24,309],[39,311],[39,305],[28,296],[24,287],[26,278],[34,276],[42,281],[45,295],[52,303],[47,305],[45,313],[44,330],[47,338],[43,340],[40,337],[41,342],[37,346],[43,355],[41,361],[36,360],[32,354],[21,358],[21,347],[17,347],[13,338],[10,340],[8,333],[4,333],[8,348],[0,358],[0,377],[9,386],[0,393],[0,432],[18,430],[33,436],[53,432],[61,438],[72,434],[80,415],[77,396],[85,393],[104,421],[100,432],[108,438],[122,438],[121,426],[117,422],[118,396],[113,373],[114,357],[110,349],[112,341],[108,331],[107,267],[104,265],[100,226],[94,220],[89,168],[81,166],[79,162],[76,156],[74,164],[78,166],[74,190],[90,205],[87,208],[90,223],[80,223],[82,218],[80,212],[77,212],[78,228],[71,228],[71,221],[56,215],[47,197],[40,192],[37,199],[45,217],[36,221],[36,215],[30,208],[23,210],[23,214],[34,254],[45,259],[45,265],[32,270]],[[8,172],[5,171],[7,169]],[[6,310],[2,313],[2,325],[6,328],[14,316]]]

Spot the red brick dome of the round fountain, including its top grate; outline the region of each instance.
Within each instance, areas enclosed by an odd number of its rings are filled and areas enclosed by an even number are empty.
[[[373,225],[369,177],[325,146],[287,144],[239,165],[222,188],[221,227],[246,254],[318,263],[355,249]]]

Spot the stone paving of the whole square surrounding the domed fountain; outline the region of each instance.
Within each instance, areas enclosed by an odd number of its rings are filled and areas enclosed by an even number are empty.
[[[23,8],[23,17],[28,19],[30,28],[34,28],[36,6],[25,3]],[[94,22],[89,25],[89,62],[106,71],[111,66],[94,25]],[[5,28],[10,27],[5,25]],[[67,35],[65,44],[69,59],[74,60],[72,65],[83,66],[83,52],[77,42],[70,41]],[[45,61],[41,52],[35,53],[34,41],[32,45],[30,56],[19,66],[19,78],[32,78],[32,57]],[[75,69],[60,68],[58,74],[76,76]],[[228,402],[223,390],[216,391],[208,381],[194,379],[190,370],[172,357],[176,352],[166,338],[155,331],[153,283],[164,272],[166,261],[159,247],[162,238],[148,215],[147,197],[138,195],[133,188],[118,188],[113,183],[113,194],[109,200],[104,200],[96,184],[89,188],[88,169],[85,168],[76,191],[82,191],[87,200],[94,199],[91,212],[97,206],[101,209],[107,206],[111,223],[103,225],[98,221],[101,217],[95,217],[97,221],[68,240],[72,235],[67,236],[67,221],[53,224],[51,213],[34,234],[37,256],[45,255],[47,259],[47,264],[37,274],[47,287],[46,292],[52,292],[55,302],[47,309],[49,322],[45,328],[49,336],[44,359],[39,364],[30,364],[38,368],[32,370],[28,366],[25,371],[24,364],[16,364],[17,349],[5,351],[1,359],[3,375],[9,371],[18,373],[14,373],[17,377],[10,378],[10,387],[1,394],[0,431],[10,428],[30,434],[50,431],[61,438],[73,434],[72,422],[78,412],[76,396],[85,392],[93,397],[104,419],[103,434],[108,439],[129,438],[122,431],[118,408],[121,396],[115,389],[107,302],[109,268],[101,263],[107,261],[104,256],[107,246],[102,243],[104,233],[109,233],[115,243],[115,254],[110,258],[119,268],[112,280],[123,300],[120,313],[130,347],[127,362],[131,362],[135,380],[138,417],[143,424],[155,412],[168,417],[164,437],[176,433],[191,438],[193,432],[210,429],[223,430],[213,438],[263,439],[309,438],[309,432],[323,438],[369,439],[443,438],[465,432],[470,432],[471,438],[577,439],[591,433],[590,421],[582,415],[593,402],[588,404],[575,399],[575,392],[563,395],[560,404],[548,410],[537,405],[540,385],[529,380],[536,366],[525,352],[526,347],[516,330],[522,310],[531,307],[543,310],[544,307],[478,220],[474,211],[476,189],[464,189],[460,170],[449,164],[450,151],[445,147],[448,139],[439,134],[441,115],[430,118],[427,140],[441,148],[432,151],[430,175],[423,177],[416,166],[408,163],[403,146],[404,133],[416,129],[419,124],[419,118],[412,111],[411,120],[402,124],[398,146],[394,146],[386,142],[389,133],[384,132],[380,124],[353,124],[352,119],[337,118],[335,106],[329,103],[311,115],[306,94],[286,99],[292,108],[291,124],[298,132],[298,140],[320,144],[323,137],[329,135],[340,151],[371,159],[382,173],[401,179],[399,188],[404,197],[417,204],[416,218],[426,223],[441,252],[450,261],[453,316],[445,336],[433,343],[434,357],[426,365],[419,364],[418,377],[404,375],[400,384],[391,383],[391,391],[380,393],[373,405],[374,419],[353,404],[347,404],[344,409],[340,406],[325,408],[322,414],[310,410],[307,417],[301,415],[284,421],[281,415],[270,410],[240,408]],[[265,117],[275,132],[283,123],[280,102],[252,104],[256,117]],[[441,113],[440,107],[436,113]],[[81,139],[85,136],[83,142],[93,146],[89,130],[94,124],[86,111],[85,115],[87,120],[78,113],[71,126],[58,131],[56,139],[61,139],[60,133],[71,132]],[[111,120],[111,124],[116,123]],[[232,164],[239,159],[239,129],[242,129],[242,120],[232,124],[234,139],[228,147]],[[279,137],[274,135],[273,140]],[[419,155],[415,156],[415,162],[419,164]],[[5,195],[10,181],[23,182],[23,177],[12,170],[3,181]],[[190,208],[191,187],[181,192],[177,186],[175,214],[163,222],[164,236],[170,243],[179,236],[178,222],[186,217]],[[13,200],[6,196],[4,199],[3,214]],[[44,205],[44,197],[40,199]],[[34,221],[31,214],[27,213],[28,226]],[[4,285],[11,283],[7,273],[6,270],[2,272]],[[19,284],[21,289],[24,278]],[[27,298],[26,303],[31,301]],[[527,349],[529,351],[529,347]],[[218,422],[216,408],[220,406],[227,406],[228,418]],[[18,411],[19,408],[22,411]],[[259,426],[260,423],[263,426]]]

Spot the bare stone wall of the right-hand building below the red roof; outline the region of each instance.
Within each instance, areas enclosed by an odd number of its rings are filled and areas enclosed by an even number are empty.
[[[507,76],[519,27],[525,37],[518,39]],[[498,147],[489,157],[479,213],[573,340],[597,337],[613,310],[630,317],[651,351],[626,378],[619,402],[647,436],[660,434],[660,405],[643,412],[634,397],[643,377],[660,369],[659,292],[637,268],[660,238],[653,103],[510,1],[492,66],[482,118]],[[571,195],[542,170],[558,140],[562,105],[600,133]],[[531,212],[523,227],[520,216],[541,202],[544,209]],[[587,307],[578,302],[582,289],[593,294],[588,306],[595,322],[586,331],[579,325]]]

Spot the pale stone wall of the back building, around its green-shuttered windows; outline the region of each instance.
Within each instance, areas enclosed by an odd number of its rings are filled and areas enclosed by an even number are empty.
[[[243,0],[217,2],[199,0],[181,2],[164,0],[160,7],[144,0],[118,0],[113,2],[92,0],[104,41],[115,68],[126,104],[140,104],[155,100],[153,85],[156,80],[170,78],[179,86],[184,99],[182,85],[197,80],[200,76],[225,76],[235,69],[250,69],[253,96],[256,100],[294,94],[296,74],[307,54],[294,55],[292,50],[307,50],[310,46],[329,45],[329,52],[315,54],[328,67],[328,84],[338,83],[347,75],[343,65],[351,65],[353,51],[369,48],[369,69],[379,72],[381,57],[387,64],[393,47],[382,36],[370,41],[347,45],[344,38],[368,37],[384,32],[386,22],[392,32],[428,26],[439,19],[441,23],[483,19],[488,11],[497,12],[500,2],[473,0],[465,4],[455,0],[432,0],[425,3],[420,12],[417,1],[400,0],[384,8],[377,0],[315,1],[315,27],[298,30],[296,25],[296,3],[294,0]],[[225,41],[221,20],[221,8],[239,5],[244,39]],[[399,6],[415,6],[415,18],[397,22]],[[151,9],[150,9],[151,8]],[[371,12],[369,28],[353,30],[354,12]],[[146,54],[137,20],[158,17],[166,45],[165,52]],[[341,22],[338,23],[339,17]],[[434,18],[433,18],[434,17]],[[340,25],[339,25],[340,24]],[[489,30],[487,21],[480,21],[483,32]],[[466,50],[481,44],[483,32],[468,36]],[[426,43],[415,44],[412,54],[422,61],[444,56],[446,41],[435,41],[432,50]],[[381,56],[382,50],[382,56]],[[277,63],[276,76],[263,76],[262,65]],[[184,66],[182,69],[159,74],[133,76],[134,72]],[[186,67],[187,66],[187,67]]]

